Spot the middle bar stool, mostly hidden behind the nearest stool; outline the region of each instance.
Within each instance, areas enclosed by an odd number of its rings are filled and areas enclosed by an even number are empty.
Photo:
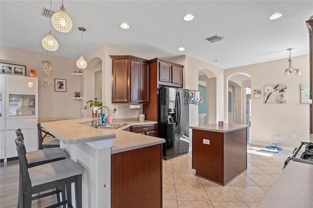
[[[20,128],[15,130],[16,136],[21,136],[22,141],[24,141],[24,136]],[[41,149],[36,151],[31,151],[26,153],[26,161],[27,161],[27,168],[33,166],[39,166],[46,163],[51,163],[58,160],[64,160],[67,158],[67,153],[60,147],[52,147],[48,149]],[[18,208],[20,207],[20,200],[21,200],[21,174],[19,179],[19,193],[18,193]],[[56,194],[58,202],[60,202],[60,195],[59,193],[62,192],[62,198],[65,198],[65,187],[56,188]]]

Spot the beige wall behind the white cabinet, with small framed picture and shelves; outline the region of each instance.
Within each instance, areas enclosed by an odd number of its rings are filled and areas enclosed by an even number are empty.
[[[76,60],[62,58],[52,54],[53,52],[37,53],[0,46],[1,62],[26,65],[26,76],[29,76],[30,69],[35,69],[37,71],[39,85],[38,116],[40,119],[80,118],[83,101],[70,99],[70,97],[75,96],[75,91],[82,91],[82,77],[71,75],[75,70],[78,71]],[[42,71],[43,61],[49,61],[52,63],[51,79],[53,84],[46,88],[44,87],[44,73]],[[54,79],[67,80],[67,91],[55,92]],[[84,94],[81,96],[84,96]]]

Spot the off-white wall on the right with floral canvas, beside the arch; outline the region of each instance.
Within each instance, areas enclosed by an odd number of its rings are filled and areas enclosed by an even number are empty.
[[[287,147],[309,141],[309,104],[300,103],[300,83],[309,83],[309,55],[292,57],[292,64],[302,69],[302,76],[283,79],[287,58],[225,69],[225,79],[244,72],[251,75],[251,91],[262,90],[261,99],[251,96],[251,144],[270,144],[271,137],[278,137],[279,145]],[[268,84],[287,84],[286,104],[264,103],[264,86]],[[227,107],[224,111],[227,112]],[[291,134],[296,135],[295,140]]]

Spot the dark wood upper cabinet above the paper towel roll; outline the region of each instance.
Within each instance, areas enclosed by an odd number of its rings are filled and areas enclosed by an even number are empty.
[[[149,63],[134,56],[112,59],[112,103],[149,103]]]

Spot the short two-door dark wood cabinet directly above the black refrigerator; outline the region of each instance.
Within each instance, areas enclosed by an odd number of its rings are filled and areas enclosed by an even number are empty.
[[[158,84],[174,87],[182,87],[183,65],[156,58],[150,60],[151,69],[158,77]]]

